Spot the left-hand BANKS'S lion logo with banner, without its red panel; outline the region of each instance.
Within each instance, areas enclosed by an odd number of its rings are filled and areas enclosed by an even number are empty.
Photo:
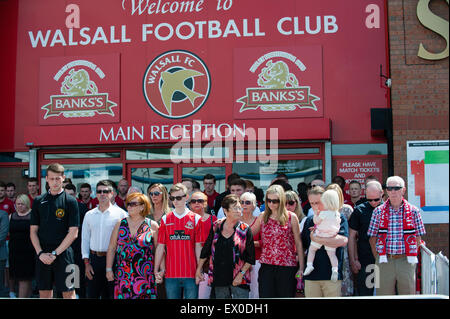
[[[105,78],[97,65],[86,60],[72,61],[58,71],[53,79],[61,83],[61,94],[51,95],[50,103],[42,107],[46,111],[44,119],[61,114],[66,118],[94,117],[96,114],[114,116],[112,108],[117,104],[108,99],[108,93],[99,92],[89,70],[100,79]],[[62,78],[65,73],[67,75]]]

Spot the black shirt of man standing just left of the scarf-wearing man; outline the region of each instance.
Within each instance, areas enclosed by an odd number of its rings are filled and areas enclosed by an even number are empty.
[[[360,263],[365,265],[375,263],[375,258],[370,248],[369,236],[367,236],[373,210],[374,208],[369,202],[364,202],[355,207],[348,221],[348,226],[358,232],[358,259]]]

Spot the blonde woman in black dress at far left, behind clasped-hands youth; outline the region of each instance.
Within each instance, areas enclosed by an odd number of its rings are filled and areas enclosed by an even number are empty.
[[[30,239],[30,200],[20,194],[16,199],[16,212],[9,222],[9,276],[19,283],[19,298],[31,296],[31,281],[36,263]]]

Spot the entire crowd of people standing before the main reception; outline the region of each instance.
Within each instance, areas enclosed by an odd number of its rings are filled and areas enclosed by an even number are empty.
[[[405,182],[279,174],[262,192],[237,173],[146,192],[100,180],[76,186],[47,168],[47,192],[0,182],[0,293],[11,298],[209,299],[415,294],[425,234]],[[75,267],[74,267],[75,266]],[[68,271],[69,269],[69,271]],[[7,270],[7,271],[5,271]],[[375,271],[375,276],[373,272]],[[7,283],[7,284],[6,284]],[[5,296],[5,294],[4,294]],[[6,293],[8,296],[8,293]]]

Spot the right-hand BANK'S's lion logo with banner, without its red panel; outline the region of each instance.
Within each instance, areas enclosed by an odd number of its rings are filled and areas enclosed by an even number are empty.
[[[254,74],[259,72],[258,87],[247,88],[247,95],[237,100],[242,103],[239,112],[294,111],[297,108],[317,111],[314,102],[320,98],[311,94],[310,86],[301,85],[299,70],[305,71],[305,65],[290,53],[276,51],[260,57],[250,68]]]

